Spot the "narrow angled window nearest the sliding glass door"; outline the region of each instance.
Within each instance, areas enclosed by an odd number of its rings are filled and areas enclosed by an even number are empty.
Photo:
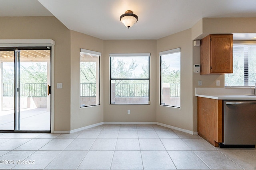
[[[95,51],[80,51],[80,107],[100,104],[100,55]]]

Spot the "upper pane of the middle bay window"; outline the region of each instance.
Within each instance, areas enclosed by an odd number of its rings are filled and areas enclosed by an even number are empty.
[[[111,78],[148,78],[149,57],[111,57]]]

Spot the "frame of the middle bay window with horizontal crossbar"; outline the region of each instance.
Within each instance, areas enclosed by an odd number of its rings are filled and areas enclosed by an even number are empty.
[[[111,57],[148,57],[148,78],[112,78],[112,60]],[[150,53],[109,53],[110,60],[110,105],[150,105]],[[148,80],[148,104],[116,104],[111,102],[111,81],[112,80]]]

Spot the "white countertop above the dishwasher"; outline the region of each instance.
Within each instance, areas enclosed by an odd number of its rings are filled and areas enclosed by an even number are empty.
[[[253,89],[196,88],[196,96],[217,100],[256,100]]]

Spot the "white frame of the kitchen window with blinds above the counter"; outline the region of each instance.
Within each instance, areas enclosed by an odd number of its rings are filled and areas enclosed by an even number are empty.
[[[256,47],[255,41],[248,41],[248,42],[246,41],[246,43],[243,41],[233,42],[233,62],[234,62],[234,47],[236,47],[236,46],[244,47],[244,46],[250,46],[250,45],[254,45]],[[249,63],[248,63],[248,65],[249,65]],[[233,66],[234,66],[234,64],[233,64]],[[234,68],[233,68],[233,72],[234,72]],[[230,73],[230,74],[233,74],[233,73]],[[225,74],[225,75],[229,75],[229,74]],[[224,84],[226,83],[225,79],[226,79],[226,76],[224,76]],[[256,86],[249,86],[249,84],[248,84],[248,86],[246,86],[246,85],[244,85],[244,86],[225,86],[224,85],[224,87],[225,88],[256,88]]]

